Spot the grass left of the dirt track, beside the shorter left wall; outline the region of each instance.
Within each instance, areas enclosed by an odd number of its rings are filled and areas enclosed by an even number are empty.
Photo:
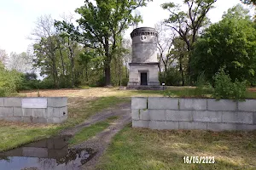
[[[42,125],[27,123],[0,122],[0,151],[10,150],[21,144],[55,135],[66,127],[73,127],[98,111],[113,107],[127,98],[102,97],[93,100],[69,98],[76,105],[68,106],[67,122],[61,125]]]

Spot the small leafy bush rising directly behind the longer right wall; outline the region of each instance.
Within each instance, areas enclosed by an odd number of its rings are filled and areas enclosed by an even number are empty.
[[[213,77],[214,92],[213,97],[216,99],[234,99],[241,100],[246,95],[247,82],[231,81],[230,75],[220,68],[216,75]]]

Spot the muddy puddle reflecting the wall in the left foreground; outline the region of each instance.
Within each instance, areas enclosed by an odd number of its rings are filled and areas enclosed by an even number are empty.
[[[43,139],[0,153],[0,169],[6,170],[76,170],[90,161],[92,149],[68,149],[70,137]]]

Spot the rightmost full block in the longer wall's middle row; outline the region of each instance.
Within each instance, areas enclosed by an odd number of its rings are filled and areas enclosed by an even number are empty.
[[[223,111],[223,122],[253,124],[253,112]]]

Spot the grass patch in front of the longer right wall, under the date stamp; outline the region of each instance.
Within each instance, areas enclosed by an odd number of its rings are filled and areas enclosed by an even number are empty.
[[[214,164],[184,164],[183,156],[214,156]],[[256,131],[121,130],[97,169],[255,169]]]

